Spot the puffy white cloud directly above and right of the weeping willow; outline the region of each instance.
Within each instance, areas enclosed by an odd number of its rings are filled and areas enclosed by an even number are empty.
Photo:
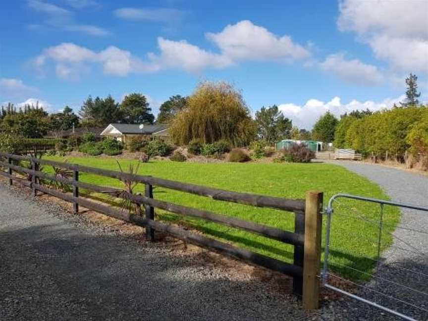
[[[206,33],[206,37],[218,46],[223,55],[236,61],[289,61],[310,56],[307,49],[293,43],[289,36],[278,37],[249,20],[227,25],[219,33]]]

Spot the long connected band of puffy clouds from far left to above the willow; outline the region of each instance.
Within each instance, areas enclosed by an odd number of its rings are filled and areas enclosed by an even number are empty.
[[[207,51],[185,40],[159,37],[159,53],[148,53],[144,59],[114,46],[95,52],[72,43],[62,43],[44,50],[33,62],[42,69],[49,61],[54,61],[57,76],[69,78],[83,65],[91,63],[102,64],[105,74],[125,76],[132,72],[147,73],[171,68],[197,73],[205,68],[221,69],[244,60],[289,62],[310,55],[309,50],[294,44],[290,37],[275,36],[266,28],[247,20],[206,36],[218,46],[219,53]],[[240,40],[233,40],[235,37]],[[255,37],[257,42],[254,42]]]

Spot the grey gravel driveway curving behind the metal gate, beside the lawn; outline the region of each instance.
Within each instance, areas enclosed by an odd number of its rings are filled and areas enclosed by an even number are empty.
[[[344,166],[379,184],[392,201],[428,208],[427,175],[361,162],[334,161],[332,163]],[[382,254],[383,263],[376,273],[384,280],[378,281],[377,286],[385,294],[393,295],[428,310],[428,294],[424,294],[428,293],[428,212],[409,209],[402,209],[401,212],[400,227],[416,229],[424,231],[424,233],[401,228],[394,231],[394,244]],[[416,251],[422,255],[415,253]],[[392,282],[403,284],[414,290],[403,288]],[[368,285],[374,288],[375,282],[372,280]],[[381,295],[376,296],[370,291],[364,291],[362,296],[398,310],[416,320],[428,320],[428,312],[422,312],[402,302]],[[335,306],[340,312],[343,310],[349,312],[348,315],[343,314],[344,319],[347,320],[386,320],[386,318],[387,320],[401,320],[394,319],[390,315],[381,315],[378,310],[355,300],[346,300]]]

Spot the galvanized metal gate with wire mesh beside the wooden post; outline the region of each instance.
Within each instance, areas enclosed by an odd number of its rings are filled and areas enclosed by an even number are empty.
[[[336,194],[325,214],[323,286],[390,317],[428,320],[428,208]]]

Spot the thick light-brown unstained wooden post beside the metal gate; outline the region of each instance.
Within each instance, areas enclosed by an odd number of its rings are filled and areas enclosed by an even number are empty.
[[[306,192],[303,308],[307,310],[318,309],[320,302],[322,197],[322,192]]]

